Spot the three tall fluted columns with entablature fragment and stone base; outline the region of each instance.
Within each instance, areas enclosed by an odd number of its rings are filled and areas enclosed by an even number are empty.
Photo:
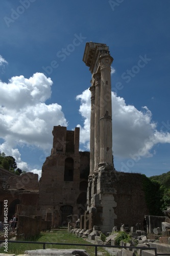
[[[113,58],[105,44],[87,42],[83,61],[92,74],[90,175],[87,191],[89,229],[96,225],[101,227],[101,231],[109,232],[116,218],[112,156],[111,63]]]

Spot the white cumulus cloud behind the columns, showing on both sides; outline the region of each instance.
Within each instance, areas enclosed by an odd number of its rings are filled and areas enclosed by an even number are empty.
[[[79,112],[84,118],[84,126],[78,125],[80,142],[89,150],[90,131],[90,91],[85,90],[77,96],[81,105]],[[124,98],[112,92],[113,152],[119,158],[152,157],[154,146],[158,143],[170,143],[170,134],[156,130],[152,113],[143,106],[139,111],[133,105],[127,105]]]

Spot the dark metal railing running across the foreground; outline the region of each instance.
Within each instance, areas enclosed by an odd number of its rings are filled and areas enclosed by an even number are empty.
[[[0,240],[0,243],[5,242],[5,240]],[[11,241],[9,240],[8,243],[25,243],[25,244],[42,244],[43,245],[43,249],[45,249],[45,245],[49,244],[49,245],[66,245],[66,246],[75,246],[75,248],[77,246],[89,246],[89,247],[95,247],[95,256],[98,256],[98,247],[107,247],[107,248],[120,248],[120,249],[136,249],[136,250],[154,250],[155,252],[155,256],[160,256],[160,255],[170,255],[170,253],[160,253],[157,252],[157,248],[154,247],[135,247],[135,246],[120,246],[120,245],[99,245],[99,244],[71,244],[71,243],[51,243],[51,242],[31,242],[31,241]]]

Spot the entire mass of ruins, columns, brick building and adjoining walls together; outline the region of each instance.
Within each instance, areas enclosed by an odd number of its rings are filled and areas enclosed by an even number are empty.
[[[134,226],[149,215],[140,174],[117,172],[112,153],[111,63],[109,47],[87,42],[83,61],[91,79],[90,153],[79,151],[79,127],[67,131],[54,126],[50,156],[35,174],[16,176],[1,172],[0,221],[4,200],[9,218],[40,216],[52,227],[67,225],[68,216],[84,230],[99,226],[110,232],[122,223]],[[140,211],[138,210],[140,209]],[[32,220],[30,220],[31,222]],[[34,221],[33,225],[34,225]],[[44,224],[45,225],[45,224]]]

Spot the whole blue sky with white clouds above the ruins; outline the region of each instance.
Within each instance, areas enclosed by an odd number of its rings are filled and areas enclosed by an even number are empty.
[[[170,1],[1,0],[0,151],[41,175],[53,126],[89,151],[86,42],[109,47],[115,169],[170,170]]]

